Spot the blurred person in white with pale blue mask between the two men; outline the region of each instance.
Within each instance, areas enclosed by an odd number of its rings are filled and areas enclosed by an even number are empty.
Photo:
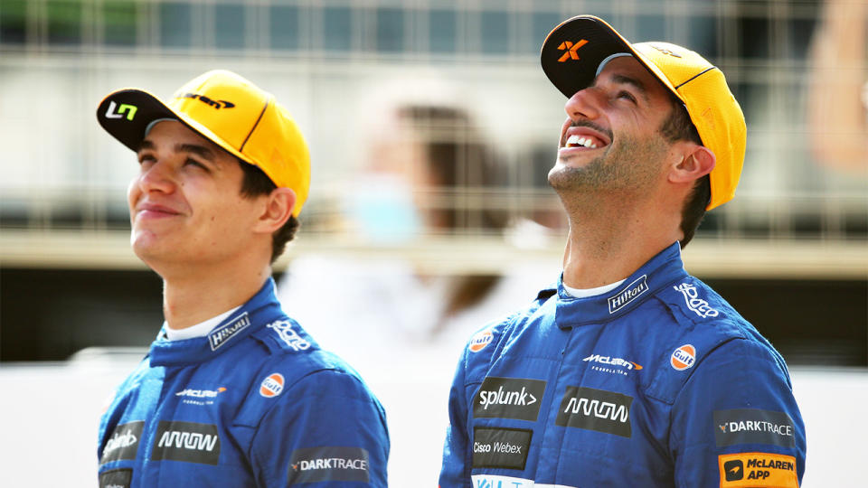
[[[425,237],[503,238],[507,215],[492,200],[505,165],[467,110],[434,94],[448,89],[431,82],[417,98],[384,85],[360,110],[359,171],[342,193],[348,232],[394,255],[306,253],[290,263],[278,296],[299,322],[316,323],[311,333],[358,368],[389,406],[392,465],[397,475],[405,473],[401,466],[414,468],[412,480],[391,474],[392,483],[409,486],[437,475],[447,421],[438,392],[460,344],[551,280],[556,263],[456,275],[432,273],[401,254],[424,247]]]

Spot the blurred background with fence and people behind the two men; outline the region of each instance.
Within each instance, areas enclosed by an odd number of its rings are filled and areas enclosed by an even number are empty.
[[[0,484],[96,483],[100,406],[162,324],[161,280],[128,245],[135,155],[99,128],[99,101],[168,99],[223,68],[275,94],[310,145],[302,227],[275,267],[286,311],[382,400],[392,485],[433,486],[461,344],[559,274],[546,174],[565,99],[539,49],[576,14],[726,74],[744,173],[685,265],[788,361],[804,485],[863,483],[866,0],[0,0]]]

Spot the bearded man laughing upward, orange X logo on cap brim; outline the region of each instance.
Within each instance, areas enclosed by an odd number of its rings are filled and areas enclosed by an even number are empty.
[[[590,15],[541,55],[568,98],[549,173],[570,221],[563,273],[467,344],[440,488],[798,486],[783,358],[681,260],[741,174],[721,70]]]

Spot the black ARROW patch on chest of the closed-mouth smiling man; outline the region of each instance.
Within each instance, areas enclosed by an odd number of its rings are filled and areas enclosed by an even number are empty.
[[[220,461],[220,436],[217,426],[195,422],[161,420],[156,428],[151,461],[184,461],[217,465]]]

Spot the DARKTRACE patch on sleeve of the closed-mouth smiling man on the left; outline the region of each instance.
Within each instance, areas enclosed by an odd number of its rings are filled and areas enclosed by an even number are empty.
[[[370,483],[368,451],[361,447],[320,446],[290,455],[288,484],[326,481]]]

